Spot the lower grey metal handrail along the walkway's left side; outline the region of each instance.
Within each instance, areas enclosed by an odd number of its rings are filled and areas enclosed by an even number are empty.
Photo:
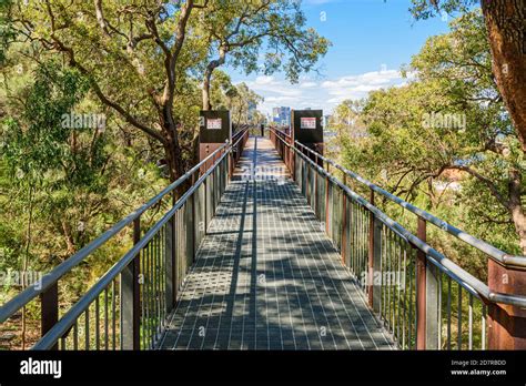
[[[241,139],[239,140],[241,141]],[[175,205],[168,211],[162,219],[155,223],[141,240],[128,251],[62,317],[61,319],[31,348],[36,351],[51,349],[55,343],[63,336],[82,315],[87,307],[108,287],[109,284],[135,258],[138,253],[153,238],[153,236],[162,228],[164,224],[179,211],[188,199],[203,184],[206,177],[215,170],[215,167],[224,160],[229,151],[235,146],[229,145],[229,149],[215,161],[210,167],[182,196]]]

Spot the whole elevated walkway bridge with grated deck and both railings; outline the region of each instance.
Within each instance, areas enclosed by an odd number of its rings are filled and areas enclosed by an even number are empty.
[[[381,199],[413,213],[416,234],[375,206]],[[427,224],[484,253],[488,283],[428,245]],[[133,246],[71,307],[59,307],[58,283],[130,227]],[[0,323],[37,303],[33,349],[525,348],[525,257],[282,131],[242,130],[6,303]]]

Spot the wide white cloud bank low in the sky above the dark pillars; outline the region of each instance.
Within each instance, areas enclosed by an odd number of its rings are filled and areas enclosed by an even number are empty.
[[[357,75],[345,75],[336,79],[327,79],[316,82],[308,77],[302,78],[299,84],[291,84],[275,77],[257,77],[244,81],[249,88],[262,95],[265,101],[259,109],[267,114],[272,108],[291,106],[292,109],[323,109],[330,114],[333,109],[346,99],[361,99],[367,96],[371,91],[390,87],[401,87],[413,79],[402,78],[399,71],[387,70],[371,71]]]

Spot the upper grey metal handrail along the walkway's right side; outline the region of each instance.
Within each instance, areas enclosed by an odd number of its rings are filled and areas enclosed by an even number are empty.
[[[283,133],[283,135],[286,135]],[[486,243],[485,241],[477,238],[468,233],[463,232],[462,230],[448,224],[444,220],[441,220],[433,214],[421,210],[419,207],[416,207],[408,202],[402,200],[401,197],[385,191],[384,189],[380,187],[378,185],[375,185],[371,181],[365,180],[361,175],[343,167],[342,165],[335,163],[334,161],[323,156],[320,153],[316,153],[312,149],[308,149],[304,144],[295,141],[295,144],[300,145],[302,149],[308,151],[310,153],[316,155],[320,160],[323,160],[326,163],[330,163],[341,172],[345,173],[346,175],[351,176],[352,179],[363,183],[364,185],[368,186],[371,190],[375,191],[376,193],[382,194],[384,197],[391,200],[392,202],[398,204],[399,206],[408,210],[409,212],[416,214],[418,217],[428,221],[433,225],[439,227],[441,230],[449,233],[451,235],[457,237],[458,240],[462,240],[463,242],[469,244],[471,246],[477,248],[481,252],[484,252],[486,255],[488,255],[490,258],[496,261],[499,264],[506,265],[506,266],[515,266],[515,267],[526,267],[526,256],[513,256],[507,254],[504,251],[498,250],[497,247],[493,246],[492,244]]]

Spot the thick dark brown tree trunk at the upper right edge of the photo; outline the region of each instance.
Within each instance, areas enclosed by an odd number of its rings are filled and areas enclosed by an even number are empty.
[[[493,72],[526,152],[526,0],[482,0]]]

